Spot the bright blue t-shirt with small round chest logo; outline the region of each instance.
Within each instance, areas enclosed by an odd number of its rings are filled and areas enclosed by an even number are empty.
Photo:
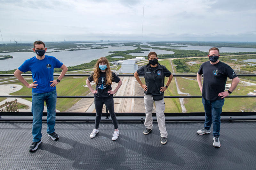
[[[53,79],[53,69],[60,68],[63,65],[57,58],[45,55],[43,60],[32,57],[26,60],[18,69],[22,72],[31,71],[33,81],[36,81],[36,88],[32,88],[32,92],[45,93],[52,92],[56,86],[51,87],[50,81]]]

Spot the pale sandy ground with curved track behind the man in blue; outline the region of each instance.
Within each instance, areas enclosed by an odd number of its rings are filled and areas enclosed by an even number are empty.
[[[16,86],[15,88],[11,88],[13,86]],[[11,96],[9,93],[12,92],[17,92],[22,88],[22,85],[15,85],[15,84],[8,84],[8,85],[0,85],[0,95],[1,96]],[[24,105],[27,105],[29,108],[28,109],[19,109],[19,112],[31,112],[31,106],[32,106],[32,102],[25,100],[25,99],[21,99],[21,98],[7,98],[3,101],[0,102],[0,105],[4,104],[6,101],[13,101],[17,99],[17,102],[22,103]],[[44,112],[47,112],[47,108],[44,106]],[[59,110],[56,110],[56,112],[60,112]]]

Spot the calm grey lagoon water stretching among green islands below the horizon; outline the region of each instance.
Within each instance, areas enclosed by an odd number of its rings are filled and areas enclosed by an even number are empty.
[[[103,49],[86,49],[86,50],[79,50],[79,51],[66,50],[66,51],[52,52],[52,53],[46,52],[45,54],[55,56],[66,66],[75,66],[81,63],[88,63],[94,59],[98,59],[100,57],[104,57],[109,54],[112,54],[112,53],[109,53],[108,51],[125,51],[125,50],[135,49],[135,47],[127,47],[127,46],[111,47],[107,45],[108,43],[113,43],[113,42],[102,43],[104,47],[108,47]],[[120,41],[117,43],[120,43]],[[143,43],[143,44],[149,45],[147,43]],[[200,50],[200,51],[207,52],[210,48],[211,47],[208,47],[208,46],[188,46],[188,47],[182,47],[179,49]],[[143,49],[149,49],[150,51],[155,51],[157,54],[174,54],[172,51],[155,50],[152,48],[143,48]],[[55,49],[52,49],[49,51],[55,51]],[[141,53],[130,53],[130,55],[147,56],[150,51],[144,51]],[[256,49],[255,48],[228,48],[228,47],[220,48],[220,52],[253,52],[253,51],[256,51]],[[17,69],[26,59],[29,59],[35,56],[35,53],[15,52],[15,53],[0,53],[0,55],[13,56],[13,58],[0,60],[0,70],[13,70],[13,69]],[[248,61],[248,62],[254,62],[254,61]]]

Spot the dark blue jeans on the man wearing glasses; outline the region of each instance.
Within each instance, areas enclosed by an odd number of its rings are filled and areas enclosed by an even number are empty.
[[[206,100],[202,98],[205,112],[204,129],[209,130],[213,127],[213,136],[220,136],[220,114],[224,105],[224,98],[221,100]]]

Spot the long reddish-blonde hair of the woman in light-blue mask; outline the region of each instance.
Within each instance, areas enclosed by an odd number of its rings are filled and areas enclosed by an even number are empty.
[[[112,85],[112,71],[110,69],[109,63],[108,63],[108,59],[106,57],[100,57],[100,59],[96,62],[96,64],[94,65],[94,74],[93,74],[93,80],[95,82],[95,84],[98,84],[98,79],[100,78],[100,68],[99,68],[99,64],[100,63],[104,63],[107,64],[107,68],[106,68],[106,85]]]

